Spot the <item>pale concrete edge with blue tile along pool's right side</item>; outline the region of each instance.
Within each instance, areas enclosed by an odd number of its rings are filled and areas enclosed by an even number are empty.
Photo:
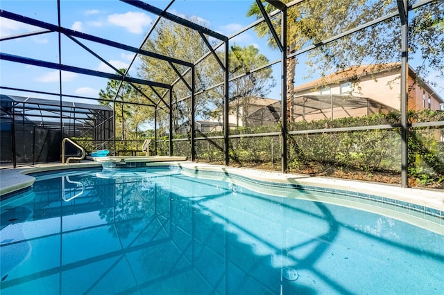
[[[441,220],[444,219],[444,191],[425,188],[401,188],[391,184],[330,177],[311,177],[309,175],[284,174],[250,168],[232,168],[200,163],[178,163],[177,166],[191,172],[194,176],[200,174],[208,177],[212,172],[219,172],[230,177],[234,176],[234,178],[239,180],[248,180],[253,184],[268,186],[271,190],[283,187],[318,193],[347,195],[358,199],[392,204],[411,211],[432,215]]]

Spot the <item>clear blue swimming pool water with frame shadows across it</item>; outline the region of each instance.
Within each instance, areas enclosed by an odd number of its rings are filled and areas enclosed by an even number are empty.
[[[443,294],[442,225],[169,168],[36,177],[1,202],[2,295]]]

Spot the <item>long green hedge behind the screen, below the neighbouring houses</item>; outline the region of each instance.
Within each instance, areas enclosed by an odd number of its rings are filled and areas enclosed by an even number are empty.
[[[444,120],[443,111],[409,111],[407,120],[411,123]],[[325,119],[311,122],[289,123],[289,130],[309,130],[370,125],[399,125],[400,112],[375,114],[372,116]],[[262,127],[239,127],[230,134],[258,134],[276,132],[279,125]],[[436,128],[436,129],[435,129]],[[444,179],[444,145],[439,142],[439,127],[420,127],[409,129],[409,166],[411,177],[419,184],[442,182]],[[376,171],[399,173],[401,170],[401,132],[400,127],[393,129],[370,129],[350,132],[325,132],[293,134],[288,136],[287,152],[290,170],[309,166],[335,166],[362,170],[367,175]],[[221,132],[205,134],[218,136]],[[280,158],[280,144],[271,147],[277,137],[245,137],[230,140],[230,161],[248,166],[252,163],[271,163]],[[203,142],[200,142],[203,144]],[[197,145],[197,143],[196,143]],[[217,149],[210,144],[212,148]],[[219,148],[223,149],[223,141]],[[223,150],[218,152],[223,161]],[[203,155],[209,161],[210,153]],[[273,156],[272,156],[273,155]]]

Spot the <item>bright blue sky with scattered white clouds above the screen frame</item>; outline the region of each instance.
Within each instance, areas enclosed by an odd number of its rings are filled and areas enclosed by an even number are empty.
[[[146,2],[162,10],[170,3],[170,1],[164,0],[146,0]],[[253,3],[253,0],[176,0],[168,11],[179,17],[194,17],[202,21],[208,28],[230,36],[255,21],[253,17],[246,17],[246,12],[251,3]],[[14,12],[50,24],[58,24],[56,0],[1,0],[0,8],[1,10]],[[60,11],[60,24],[65,28],[71,28],[134,47],[141,45],[144,36],[151,29],[153,22],[157,18],[157,15],[116,0],[61,0]],[[0,19],[1,37],[28,33],[35,30],[39,29],[16,21],[10,21],[9,19]],[[79,40],[118,69],[128,67],[133,60],[134,54],[131,52],[88,42],[84,39]],[[257,38],[253,29],[230,40],[230,44],[232,42],[240,46],[253,44],[270,61],[280,58],[280,52],[267,46],[266,38]],[[101,62],[101,60],[63,35],[61,48],[62,64],[114,73],[114,70]],[[58,33],[45,33],[1,41],[0,50],[1,53],[58,63]],[[300,59],[303,59],[303,57],[300,57]],[[301,68],[300,64],[298,64],[299,73],[304,73],[305,70]],[[130,75],[133,77],[137,76],[137,63],[130,68]],[[280,99],[280,76],[280,64],[277,64],[273,66],[273,77],[275,78],[276,87],[268,94],[268,98]],[[438,86],[434,87],[434,89],[444,98],[443,76],[432,72],[427,78],[437,82]],[[35,89],[53,93],[60,92],[59,72],[57,70],[17,64],[5,60],[0,60],[0,82],[3,87]],[[108,80],[104,78],[62,72],[62,93],[74,96],[98,97],[99,91],[105,89],[107,82]],[[307,81],[302,80],[298,76],[296,85],[302,84],[302,82]],[[40,93],[25,93],[5,89],[0,89],[0,93],[58,99],[58,96],[46,96]],[[67,98],[67,100],[95,103],[92,100],[81,100],[78,98]]]

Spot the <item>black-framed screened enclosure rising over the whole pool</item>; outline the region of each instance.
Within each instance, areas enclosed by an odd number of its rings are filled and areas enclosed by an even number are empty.
[[[151,155],[443,189],[444,1],[0,5],[3,164],[150,138]]]

